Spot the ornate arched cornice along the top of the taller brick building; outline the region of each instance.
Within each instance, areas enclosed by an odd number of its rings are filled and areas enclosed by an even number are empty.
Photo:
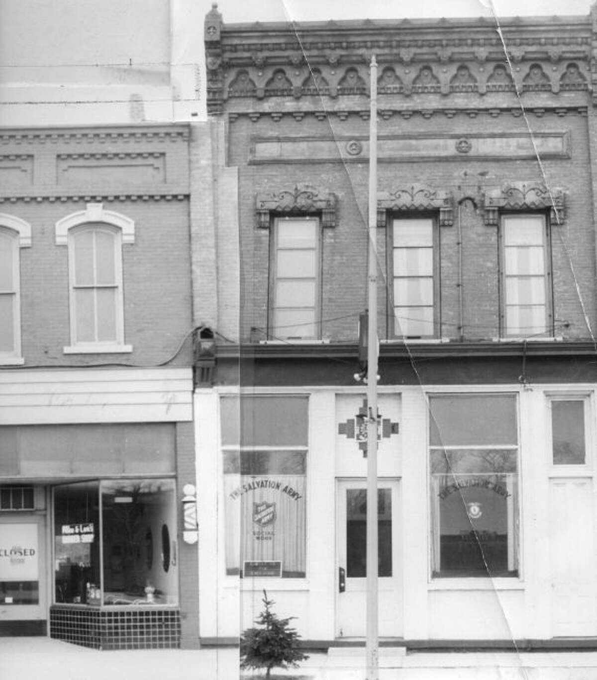
[[[227,26],[214,7],[206,17],[208,112],[247,98],[366,98],[373,52],[380,106],[397,97],[597,89],[589,17],[500,23],[513,73],[489,19]]]

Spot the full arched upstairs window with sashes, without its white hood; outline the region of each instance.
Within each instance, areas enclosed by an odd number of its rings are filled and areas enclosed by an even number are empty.
[[[121,345],[123,284],[121,235],[108,224],[69,231],[71,341],[73,345]]]

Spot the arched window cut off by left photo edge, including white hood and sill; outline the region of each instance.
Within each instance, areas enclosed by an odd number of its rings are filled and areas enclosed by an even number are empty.
[[[20,248],[31,245],[31,226],[0,215],[0,364],[22,364]]]

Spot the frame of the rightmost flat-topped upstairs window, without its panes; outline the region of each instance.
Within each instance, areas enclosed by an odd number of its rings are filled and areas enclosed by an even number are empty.
[[[506,273],[506,222],[510,219],[524,219],[524,218],[540,218],[543,222],[543,287],[545,295],[545,330],[541,333],[521,333],[519,329],[515,332],[511,332],[508,327],[508,285],[507,279],[509,275]],[[553,338],[553,295],[551,290],[551,239],[549,233],[549,222],[547,216],[542,212],[524,212],[524,213],[506,213],[502,214],[500,218],[500,292],[502,295],[501,309],[500,309],[500,326],[501,335],[505,340],[513,339],[530,339],[530,340],[545,340]],[[521,246],[522,248],[528,246]],[[524,275],[517,274],[512,275],[512,277],[523,278],[532,277],[538,275]],[[524,307],[526,305],[517,305],[519,307]]]

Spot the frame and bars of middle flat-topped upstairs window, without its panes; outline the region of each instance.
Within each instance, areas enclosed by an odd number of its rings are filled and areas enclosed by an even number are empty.
[[[432,274],[431,277],[429,275],[401,275],[400,272],[395,271],[395,267],[393,264],[394,256],[393,253],[395,250],[398,250],[398,248],[401,248],[400,246],[396,246],[396,240],[394,238],[394,231],[397,223],[400,222],[416,222],[416,221],[421,221],[421,222],[429,222],[431,225],[431,233],[432,233],[432,243],[431,245],[427,246],[403,246],[402,250],[414,250],[417,248],[417,250],[421,248],[427,248],[431,250],[432,252]],[[387,257],[388,257],[388,269],[391,272],[391,276],[389,277],[391,279],[391,292],[390,292],[390,302],[388,305],[388,318],[389,318],[389,328],[388,328],[388,336],[391,337],[392,339],[399,339],[399,340],[408,340],[410,341],[411,339],[419,342],[424,342],[426,340],[434,340],[438,338],[438,329],[439,329],[439,275],[438,275],[438,254],[439,254],[439,229],[438,229],[438,224],[437,220],[430,215],[425,215],[425,216],[420,216],[420,215],[405,215],[405,216],[393,216],[391,218],[391,224],[388,230],[389,233],[389,239],[388,239],[388,244],[387,244]],[[432,279],[432,304],[431,305],[424,305],[425,307],[431,307],[432,308],[432,318],[433,318],[433,328],[432,328],[432,333],[427,333],[425,335],[402,335],[400,333],[396,332],[396,307],[401,306],[401,307],[413,307],[417,305],[396,305],[397,301],[395,299],[395,294],[394,294],[394,284],[397,279],[412,279],[412,278],[431,278]]]

